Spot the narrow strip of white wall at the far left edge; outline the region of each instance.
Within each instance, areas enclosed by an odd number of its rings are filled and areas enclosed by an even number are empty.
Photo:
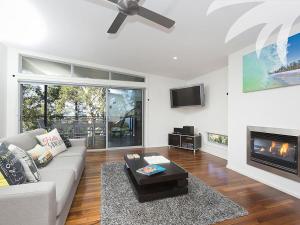
[[[6,47],[0,43],[0,138],[6,134]]]

